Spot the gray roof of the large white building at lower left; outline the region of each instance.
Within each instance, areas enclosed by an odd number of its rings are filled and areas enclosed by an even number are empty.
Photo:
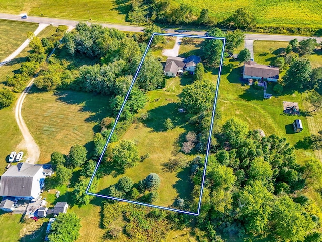
[[[41,165],[28,163],[12,165],[0,178],[0,196],[31,196],[33,188],[39,187],[33,182],[33,177],[42,169]]]

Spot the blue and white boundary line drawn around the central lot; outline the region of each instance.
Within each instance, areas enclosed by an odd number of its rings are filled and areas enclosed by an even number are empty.
[[[209,138],[208,138],[208,144],[207,144],[207,153],[206,153],[206,158],[205,158],[205,164],[204,164],[204,171],[203,171],[203,176],[202,176],[202,183],[201,183],[201,189],[200,189],[200,196],[199,196],[199,204],[198,204],[198,211],[197,213],[193,213],[193,212],[189,212],[189,211],[184,211],[184,210],[179,210],[179,209],[174,209],[174,208],[167,208],[167,207],[162,207],[162,206],[157,206],[157,205],[153,205],[153,204],[146,204],[146,203],[141,203],[141,202],[136,202],[136,201],[131,201],[131,200],[126,200],[126,199],[121,199],[121,198],[115,198],[115,197],[110,197],[110,196],[106,196],[106,195],[101,195],[101,194],[96,194],[96,193],[91,193],[89,192],[89,189],[91,187],[92,181],[95,177],[95,174],[97,172],[97,169],[102,161],[102,158],[104,156],[104,153],[106,151],[107,145],[110,142],[110,139],[112,137],[112,134],[114,132],[114,129],[118,123],[118,120],[121,116],[121,113],[124,109],[124,106],[126,104],[126,101],[130,95],[130,92],[133,88],[133,85],[135,83],[135,80],[138,76],[139,71],[141,70],[143,61],[145,59],[145,56],[148,52],[148,50],[150,49],[152,40],[154,38],[155,35],[163,35],[163,36],[178,36],[178,37],[192,37],[192,38],[202,38],[202,39],[218,39],[218,40],[222,40],[223,41],[223,45],[222,45],[222,53],[221,53],[221,59],[220,59],[220,67],[219,67],[219,72],[218,72],[218,78],[217,78],[217,87],[216,87],[216,94],[215,94],[215,99],[214,99],[214,104],[213,104],[213,111],[212,111],[212,118],[211,118],[211,124],[210,124],[210,131],[209,131]],[[208,162],[208,157],[209,157],[209,151],[210,151],[210,144],[211,144],[211,136],[212,136],[212,130],[213,130],[213,122],[214,122],[214,118],[215,118],[215,113],[216,113],[216,105],[217,105],[217,99],[218,99],[218,90],[219,90],[219,83],[220,83],[220,76],[221,76],[221,70],[222,70],[222,64],[223,64],[223,56],[224,56],[224,49],[225,49],[225,45],[226,45],[226,39],[225,38],[219,38],[219,37],[208,37],[208,36],[194,36],[194,35],[184,35],[184,34],[162,34],[162,33],[153,33],[152,37],[145,49],[145,52],[143,54],[143,57],[141,59],[141,62],[137,68],[137,71],[133,77],[133,81],[130,85],[130,88],[124,98],[123,104],[121,106],[121,109],[115,119],[115,123],[113,125],[113,128],[111,130],[111,133],[106,141],[106,144],[104,146],[104,149],[102,151],[102,154],[100,155],[100,158],[98,159],[97,165],[95,167],[95,170],[93,172],[93,175],[90,179],[89,185],[87,186],[87,189],[85,191],[86,194],[88,195],[93,195],[93,196],[97,196],[97,197],[101,197],[101,198],[108,198],[108,199],[114,199],[117,201],[122,201],[122,202],[129,202],[129,203],[133,203],[133,204],[138,204],[138,205],[144,205],[144,206],[148,206],[148,207],[153,207],[153,208],[159,208],[159,209],[165,209],[165,210],[169,210],[169,211],[174,211],[174,212],[180,212],[180,213],[185,213],[185,214],[189,214],[189,215],[195,215],[198,216],[200,214],[200,209],[201,209],[201,200],[202,200],[202,193],[203,193],[203,188],[204,188],[204,183],[205,183],[205,176],[206,176],[206,166],[207,166],[207,162]]]

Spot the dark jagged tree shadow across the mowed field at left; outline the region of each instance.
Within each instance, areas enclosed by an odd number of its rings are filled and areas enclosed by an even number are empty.
[[[109,97],[95,96],[92,93],[76,92],[76,91],[56,91],[54,95],[57,101],[71,104],[81,105],[79,111],[91,113],[90,117],[86,118],[86,122],[100,122],[104,117],[112,115],[109,108]]]

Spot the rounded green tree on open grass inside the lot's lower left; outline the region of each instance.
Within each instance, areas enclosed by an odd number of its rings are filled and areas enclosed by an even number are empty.
[[[139,161],[137,146],[134,141],[121,140],[112,150],[112,159],[122,168],[134,166]]]

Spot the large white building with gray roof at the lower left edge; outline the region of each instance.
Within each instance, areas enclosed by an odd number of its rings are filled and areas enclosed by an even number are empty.
[[[3,197],[0,209],[8,211],[10,201],[32,200],[40,195],[44,186],[44,169],[42,165],[18,163],[12,165],[0,177],[0,196]],[[12,206],[11,206],[12,207]]]

